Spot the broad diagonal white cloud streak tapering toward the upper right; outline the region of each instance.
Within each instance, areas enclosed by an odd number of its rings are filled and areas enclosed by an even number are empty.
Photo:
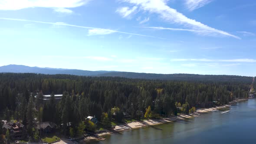
[[[238,36],[234,36],[225,31],[212,28],[196,20],[190,19],[184,14],[177,12],[177,10],[167,5],[167,0],[121,0],[138,6],[140,10],[148,11],[150,13],[157,13],[161,18],[169,23],[177,23],[183,26],[187,26],[194,32],[201,35],[209,36],[231,36],[236,39],[240,39]],[[191,31],[191,30],[186,30]]]

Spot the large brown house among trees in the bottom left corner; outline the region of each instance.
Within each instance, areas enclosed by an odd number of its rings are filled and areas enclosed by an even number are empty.
[[[25,126],[19,122],[6,122],[3,124],[3,132],[6,133],[7,130],[9,130],[10,137],[13,140],[23,139],[27,135]]]

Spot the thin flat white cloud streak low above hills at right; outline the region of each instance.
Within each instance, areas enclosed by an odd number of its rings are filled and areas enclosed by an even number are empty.
[[[256,59],[171,59],[172,62],[197,61],[197,62],[256,62]]]

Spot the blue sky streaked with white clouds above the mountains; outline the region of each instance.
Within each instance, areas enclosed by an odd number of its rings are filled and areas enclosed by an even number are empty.
[[[0,66],[256,76],[255,0],[0,0]]]

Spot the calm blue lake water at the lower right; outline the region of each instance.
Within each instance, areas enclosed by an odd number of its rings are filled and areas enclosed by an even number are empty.
[[[209,112],[186,122],[162,124],[106,136],[94,144],[256,144],[256,99],[230,112]]]

